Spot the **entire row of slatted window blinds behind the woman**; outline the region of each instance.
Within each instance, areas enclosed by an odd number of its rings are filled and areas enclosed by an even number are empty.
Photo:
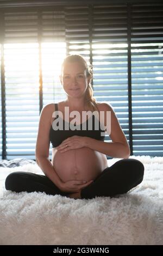
[[[92,63],[94,96],[111,103],[131,154],[163,155],[162,3],[0,7],[0,13],[4,158],[35,159],[39,114],[65,99],[60,65],[73,53]]]

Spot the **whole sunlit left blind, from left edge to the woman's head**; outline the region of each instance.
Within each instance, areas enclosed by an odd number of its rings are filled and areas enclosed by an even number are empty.
[[[34,159],[40,63],[43,106],[65,97],[58,77],[61,60],[66,55],[64,12],[58,8],[20,11],[5,13],[4,20],[7,157]]]

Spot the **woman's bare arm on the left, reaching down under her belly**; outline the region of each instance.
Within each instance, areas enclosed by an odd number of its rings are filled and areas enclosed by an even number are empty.
[[[37,133],[35,158],[36,163],[41,168],[42,172],[52,180],[52,182],[60,188],[61,179],[57,175],[52,166],[49,157],[49,131],[51,129],[51,118],[52,118],[51,105],[48,104],[42,108],[39,120],[39,129]]]

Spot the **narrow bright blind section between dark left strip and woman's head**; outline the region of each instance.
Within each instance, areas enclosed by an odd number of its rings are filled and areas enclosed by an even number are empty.
[[[66,56],[64,8],[41,13],[41,69],[43,106],[65,99],[59,75],[62,59]],[[52,156],[50,143],[49,158]]]

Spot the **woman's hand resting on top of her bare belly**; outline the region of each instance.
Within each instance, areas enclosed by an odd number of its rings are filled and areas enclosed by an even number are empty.
[[[62,143],[56,147],[60,152],[66,152],[70,149],[80,149],[86,147],[87,137],[74,135],[62,141]]]

